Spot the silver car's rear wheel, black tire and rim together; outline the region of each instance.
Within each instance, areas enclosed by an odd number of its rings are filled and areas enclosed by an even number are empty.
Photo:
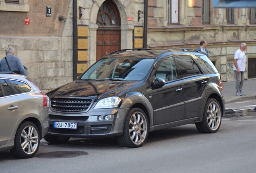
[[[15,134],[14,147],[10,150],[17,158],[28,159],[33,157],[40,145],[40,136],[37,126],[30,122],[22,122]]]

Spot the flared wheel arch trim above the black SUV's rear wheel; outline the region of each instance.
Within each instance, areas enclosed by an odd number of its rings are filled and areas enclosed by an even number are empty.
[[[220,106],[223,108],[221,114],[222,114],[222,117],[224,116],[224,109],[225,109],[225,106],[224,106],[224,98],[222,97],[222,94],[221,94],[221,90],[219,88],[219,86],[216,84],[216,83],[210,83],[206,89],[204,90],[204,92],[202,93],[202,109],[201,109],[201,115],[203,115],[204,113],[204,107],[205,107],[205,104],[206,104],[206,101],[207,99],[210,97],[210,95],[212,94],[216,94],[219,96],[219,98],[221,99],[222,103],[219,103]]]

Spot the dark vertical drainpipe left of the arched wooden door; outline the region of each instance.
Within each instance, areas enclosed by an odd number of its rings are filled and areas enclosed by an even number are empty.
[[[77,78],[77,0],[73,0],[73,80]]]

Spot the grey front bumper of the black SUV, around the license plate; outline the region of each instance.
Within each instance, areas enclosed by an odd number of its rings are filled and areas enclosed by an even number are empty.
[[[61,113],[49,111],[49,135],[63,137],[113,137],[123,133],[124,119],[129,109],[91,109],[86,113]],[[109,121],[99,121],[98,116],[113,115]],[[77,123],[76,129],[54,128],[54,122]]]

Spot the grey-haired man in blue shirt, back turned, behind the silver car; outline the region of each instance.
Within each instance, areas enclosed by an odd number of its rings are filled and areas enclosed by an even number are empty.
[[[2,60],[0,61],[0,72],[18,71],[20,74],[27,76],[26,70],[21,63],[21,60],[17,56],[14,56],[14,48],[9,46],[8,48],[6,48],[5,53],[6,59],[2,58]],[[7,65],[6,60],[9,64],[10,69]]]

